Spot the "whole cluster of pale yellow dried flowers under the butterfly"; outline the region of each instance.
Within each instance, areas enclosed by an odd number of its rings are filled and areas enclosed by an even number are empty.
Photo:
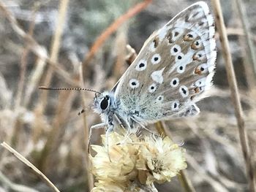
[[[145,137],[113,132],[102,136],[103,146],[92,145],[97,155],[91,158],[91,172],[98,183],[93,191],[140,191],[140,187],[164,183],[187,167],[185,150],[170,138]],[[132,190],[131,186],[136,190]]]

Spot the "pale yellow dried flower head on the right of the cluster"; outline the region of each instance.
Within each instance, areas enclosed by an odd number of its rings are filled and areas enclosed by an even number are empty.
[[[184,148],[173,144],[169,137],[145,137],[144,142],[145,145],[140,145],[136,164],[140,183],[164,183],[187,168]]]

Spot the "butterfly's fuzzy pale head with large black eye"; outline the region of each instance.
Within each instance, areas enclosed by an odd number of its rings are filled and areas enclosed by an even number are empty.
[[[113,104],[113,95],[109,92],[102,93],[100,95],[95,94],[94,97],[94,111],[102,114],[110,111]]]

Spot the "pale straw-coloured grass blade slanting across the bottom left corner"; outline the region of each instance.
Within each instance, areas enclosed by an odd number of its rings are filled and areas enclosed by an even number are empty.
[[[20,161],[23,162],[23,164],[26,164],[26,166],[29,166],[42,180],[45,181],[45,183],[50,186],[50,188],[53,189],[53,191],[57,191],[60,192],[58,188],[56,188],[55,185],[53,185],[53,183],[51,183],[51,181],[48,179],[48,177],[45,176],[45,174],[43,174],[42,172],[40,172],[39,169],[37,169],[36,166],[34,166],[33,164],[31,164],[30,161],[28,161],[26,158],[23,157],[23,155],[20,155],[20,153],[18,153],[16,150],[14,150],[12,147],[10,147],[10,145],[8,145],[6,142],[2,142],[1,146],[3,146],[4,148],[6,148],[7,150],[10,151],[10,153],[12,153],[13,155],[15,155],[15,157],[17,157]]]

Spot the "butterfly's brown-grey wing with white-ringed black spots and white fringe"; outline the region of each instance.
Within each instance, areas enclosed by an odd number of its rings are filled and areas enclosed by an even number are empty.
[[[115,86],[122,110],[142,123],[195,115],[211,87],[216,60],[214,19],[200,1],[149,37]]]

